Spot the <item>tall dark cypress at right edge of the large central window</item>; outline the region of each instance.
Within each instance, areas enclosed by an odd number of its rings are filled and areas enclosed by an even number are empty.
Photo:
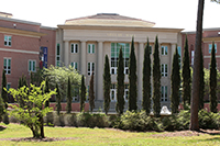
[[[134,37],[132,37],[129,58],[129,111],[138,110],[136,96],[136,57],[134,53]]]

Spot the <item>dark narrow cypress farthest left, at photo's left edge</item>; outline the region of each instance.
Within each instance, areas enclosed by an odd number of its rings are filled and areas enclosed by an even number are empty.
[[[4,88],[7,89],[7,77],[6,77],[6,71],[3,69],[2,70],[2,81],[1,81],[1,98],[3,99],[4,109],[7,109],[8,108],[8,93],[4,90]]]

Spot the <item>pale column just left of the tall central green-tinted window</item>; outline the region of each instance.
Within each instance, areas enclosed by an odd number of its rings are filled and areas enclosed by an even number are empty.
[[[96,99],[103,100],[103,42],[98,42],[96,71]]]

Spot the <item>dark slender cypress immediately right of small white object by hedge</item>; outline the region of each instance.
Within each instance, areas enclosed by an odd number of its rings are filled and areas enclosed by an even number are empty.
[[[172,114],[178,113],[179,105],[179,87],[180,87],[180,75],[179,75],[179,55],[176,45],[176,52],[173,58],[173,67],[172,67]]]

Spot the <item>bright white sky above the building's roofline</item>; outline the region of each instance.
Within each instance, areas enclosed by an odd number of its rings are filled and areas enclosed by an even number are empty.
[[[155,27],[196,31],[198,0],[2,0],[0,11],[13,19],[56,27],[66,20],[118,13],[155,22]],[[204,29],[220,27],[220,4],[205,0]]]

